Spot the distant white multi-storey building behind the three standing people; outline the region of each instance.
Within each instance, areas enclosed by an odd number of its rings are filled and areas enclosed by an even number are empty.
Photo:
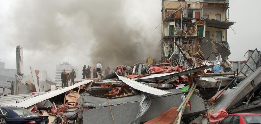
[[[78,68],[69,64],[68,62],[63,62],[63,64],[56,65],[56,72],[55,72],[55,82],[58,82],[59,84],[62,84],[61,80],[61,72],[65,69],[65,71],[69,71],[71,73],[72,69],[74,69],[76,73],[76,78],[79,76],[78,75]],[[69,81],[70,83],[70,81]]]

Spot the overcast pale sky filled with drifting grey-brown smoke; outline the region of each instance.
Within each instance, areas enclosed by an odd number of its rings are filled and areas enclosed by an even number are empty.
[[[253,4],[254,3],[254,4]],[[259,43],[261,1],[230,0],[228,29],[230,61],[242,61]],[[67,61],[103,68],[160,59],[160,0],[0,1],[0,59],[16,69],[17,45],[23,47],[24,73],[29,66],[48,71],[54,79],[56,64]],[[142,50],[135,50],[135,49]],[[80,72],[81,74],[81,72]],[[81,75],[80,75],[81,76]]]

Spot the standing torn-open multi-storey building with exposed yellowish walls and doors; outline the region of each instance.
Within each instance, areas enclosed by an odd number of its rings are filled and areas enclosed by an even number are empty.
[[[162,1],[162,61],[176,59],[191,67],[219,55],[226,60],[227,29],[234,24],[228,5],[228,0]]]

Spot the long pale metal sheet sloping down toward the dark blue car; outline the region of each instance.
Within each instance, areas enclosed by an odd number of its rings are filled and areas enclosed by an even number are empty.
[[[54,91],[48,92],[47,94],[39,95],[39,96],[24,100],[24,101],[21,101],[21,102],[18,102],[18,103],[12,102],[10,104],[4,104],[4,106],[16,106],[16,107],[27,108],[29,106],[37,104],[38,102],[50,99],[54,96],[57,96],[59,94],[66,92],[66,91],[72,90],[72,89],[74,89],[78,86],[88,84],[89,82],[92,82],[92,80],[84,80],[84,81],[81,81],[81,82],[74,84],[72,86],[68,86],[68,87],[58,89],[58,90],[54,90]]]

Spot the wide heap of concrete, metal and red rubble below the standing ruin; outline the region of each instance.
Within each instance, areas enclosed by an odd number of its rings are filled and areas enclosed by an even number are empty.
[[[229,113],[260,113],[261,56],[248,52],[236,71],[219,57],[194,67],[138,62],[54,91],[0,96],[0,105],[48,115],[50,124],[216,123]]]

